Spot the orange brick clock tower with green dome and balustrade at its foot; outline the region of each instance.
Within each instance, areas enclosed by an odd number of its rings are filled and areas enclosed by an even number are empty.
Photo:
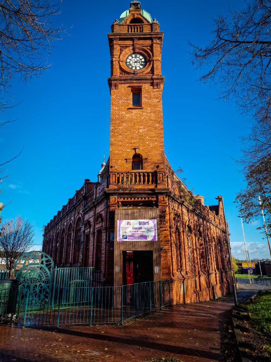
[[[161,73],[163,33],[158,22],[132,1],[112,24],[110,186],[164,187]],[[132,172],[138,171],[138,172]],[[143,172],[145,171],[145,172]]]

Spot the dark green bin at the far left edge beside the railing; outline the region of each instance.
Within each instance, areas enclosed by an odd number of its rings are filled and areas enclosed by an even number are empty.
[[[0,316],[15,314],[18,286],[17,279],[0,280]]]

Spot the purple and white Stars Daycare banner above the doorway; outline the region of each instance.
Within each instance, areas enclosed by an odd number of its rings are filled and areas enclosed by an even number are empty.
[[[118,241],[157,241],[156,220],[118,220]]]

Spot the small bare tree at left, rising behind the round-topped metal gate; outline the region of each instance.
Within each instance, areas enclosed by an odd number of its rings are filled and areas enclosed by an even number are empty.
[[[16,259],[34,245],[34,224],[17,216],[6,221],[0,229],[0,253],[6,263],[9,276]]]

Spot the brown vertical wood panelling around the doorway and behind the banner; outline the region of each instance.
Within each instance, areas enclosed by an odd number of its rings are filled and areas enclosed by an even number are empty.
[[[117,240],[117,220],[144,220],[156,219],[157,241]],[[154,281],[161,279],[160,256],[160,230],[159,209],[155,208],[121,208],[115,210],[115,235],[114,235],[114,286],[121,286],[123,282],[122,251],[153,251],[153,275]]]

